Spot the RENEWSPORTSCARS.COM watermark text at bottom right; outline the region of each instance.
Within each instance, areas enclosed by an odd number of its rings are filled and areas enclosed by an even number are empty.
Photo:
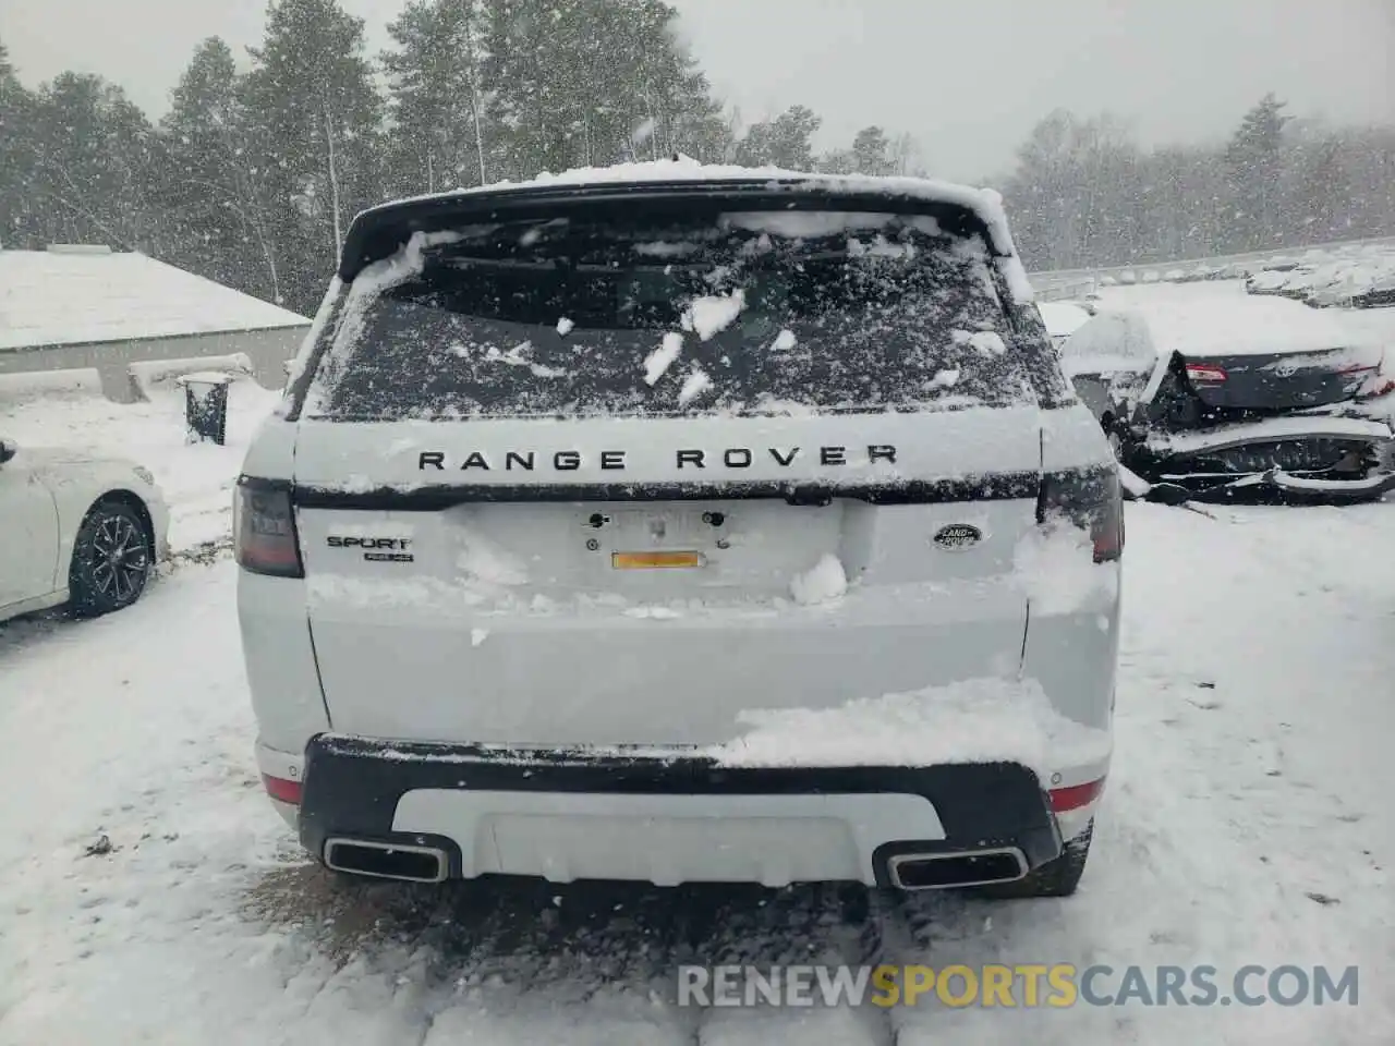
[[[1356,1006],[1357,968],[679,967],[678,1004],[742,1006]]]

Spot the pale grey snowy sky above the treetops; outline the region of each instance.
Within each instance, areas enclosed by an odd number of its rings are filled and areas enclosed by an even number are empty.
[[[343,0],[374,52],[402,0]],[[718,92],[756,120],[802,103],[817,145],[910,131],[943,177],[1006,169],[1050,109],[1109,109],[1147,142],[1225,135],[1265,91],[1290,112],[1395,121],[1392,0],[670,0]],[[0,0],[27,84],[100,73],[153,116],[204,36],[261,35],[264,0]],[[996,38],[996,39],[995,39]]]

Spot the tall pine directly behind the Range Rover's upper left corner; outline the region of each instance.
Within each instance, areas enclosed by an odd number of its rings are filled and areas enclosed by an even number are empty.
[[[287,305],[314,310],[353,215],[382,198],[382,100],[363,20],[336,0],[272,0],[247,109]]]

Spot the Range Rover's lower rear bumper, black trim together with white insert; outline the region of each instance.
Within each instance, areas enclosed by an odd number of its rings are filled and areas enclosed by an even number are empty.
[[[319,735],[299,831],[321,861],[332,840],[430,847],[449,879],[893,886],[905,854],[1004,848],[1028,870],[1056,858],[1094,799],[1057,816],[1052,798],[1016,763],[728,768]]]

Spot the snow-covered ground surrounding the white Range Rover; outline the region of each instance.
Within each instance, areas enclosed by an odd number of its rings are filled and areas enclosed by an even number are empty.
[[[174,399],[7,430],[142,459],[187,548],[226,533],[272,402],[240,385],[225,449],[186,446]],[[854,925],[813,888],[336,886],[261,792],[226,558],[109,618],[0,626],[0,1046],[1395,1042],[1395,503],[1209,512],[1127,509],[1117,748],[1080,893]],[[698,1010],[672,1004],[686,962],[1208,964],[1222,985],[1357,965],[1360,994]]]

